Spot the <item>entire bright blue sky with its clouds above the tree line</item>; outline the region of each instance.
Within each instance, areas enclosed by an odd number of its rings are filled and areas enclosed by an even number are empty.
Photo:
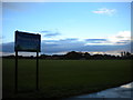
[[[2,2],[2,54],[14,53],[16,30],[40,33],[45,54],[120,54],[131,51],[131,2]]]

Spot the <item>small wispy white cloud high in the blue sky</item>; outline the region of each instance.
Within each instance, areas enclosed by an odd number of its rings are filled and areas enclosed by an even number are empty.
[[[108,14],[108,16],[112,16],[116,12],[115,9],[108,9],[108,8],[101,8],[101,9],[98,9],[95,11],[92,11],[93,13],[96,13],[96,14]]]

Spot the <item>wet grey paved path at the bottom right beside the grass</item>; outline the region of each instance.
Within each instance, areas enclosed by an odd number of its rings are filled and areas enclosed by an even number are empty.
[[[133,82],[100,92],[78,96],[74,98],[133,98]]]

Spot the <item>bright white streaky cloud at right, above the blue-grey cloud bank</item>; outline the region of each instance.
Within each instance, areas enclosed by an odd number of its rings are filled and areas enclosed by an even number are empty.
[[[131,42],[131,31],[120,31],[104,39],[85,39],[85,46],[120,46]]]

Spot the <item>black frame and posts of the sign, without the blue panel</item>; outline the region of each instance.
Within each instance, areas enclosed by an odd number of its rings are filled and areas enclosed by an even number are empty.
[[[22,33],[23,36],[30,36],[30,37],[35,37],[38,36],[38,48],[37,50],[28,50],[28,49],[18,49],[17,48],[17,42],[18,42],[18,34]],[[14,93],[18,93],[18,51],[27,51],[27,52],[37,52],[37,76],[35,76],[35,90],[39,91],[39,52],[41,52],[41,34],[33,34],[33,33],[28,33],[28,32],[22,32],[22,31],[16,31],[14,33],[14,52],[16,52],[16,68],[14,68]]]

